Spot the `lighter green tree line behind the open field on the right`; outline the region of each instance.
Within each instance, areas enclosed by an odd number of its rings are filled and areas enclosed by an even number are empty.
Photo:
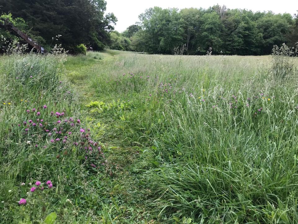
[[[215,5],[203,8],[153,7],[139,15],[140,22],[124,32],[113,31],[111,48],[150,54],[264,55],[273,45],[298,42],[298,14],[252,12]]]

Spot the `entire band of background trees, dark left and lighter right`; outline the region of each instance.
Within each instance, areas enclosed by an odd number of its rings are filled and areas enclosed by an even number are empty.
[[[94,50],[116,50],[173,54],[264,55],[274,44],[294,46],[298,41],[297,14],[252,12],[214,5],[203,8],[162,9],[154,7],[139,15],[139,22],[124,32],[113,31],[117,18],[106,13],[104,0],[21,1],[0,0],[2,17],[11,17],[15,26],[50,46],[53,37],[75,53],[85,44]],[[9,15],[9,13],[11,13]],[[1,31],[3,35],[3,31]],[[7,34],[6,34],[7,35]]]

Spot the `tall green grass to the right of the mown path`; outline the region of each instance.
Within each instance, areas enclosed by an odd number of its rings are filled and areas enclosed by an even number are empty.
[[[270,63],[269,56],[131,53],[81,73],[91,99],[120,99],[89,114],[111,124],[100,139],[153,153],[137,175],[151,217],[298,222],[297,70],[275,79]]]

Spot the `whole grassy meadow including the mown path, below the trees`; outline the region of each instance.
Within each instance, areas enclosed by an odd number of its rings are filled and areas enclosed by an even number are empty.
[[[297,58],[58,59],[1,58],[0,223],[298,223]]]

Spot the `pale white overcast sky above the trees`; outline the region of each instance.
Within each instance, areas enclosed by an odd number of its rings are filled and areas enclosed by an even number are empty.
[[[298,10],[298,0],[106,0],[106,12],[113,12],[118,19],[115,30],[122,32],[138,21],[138,15],[145,9],[159,6],[162,8],[208,8],[226,5],[227,8],[246,8],[256,11],[272,11],[274,13],[290,13]]]

